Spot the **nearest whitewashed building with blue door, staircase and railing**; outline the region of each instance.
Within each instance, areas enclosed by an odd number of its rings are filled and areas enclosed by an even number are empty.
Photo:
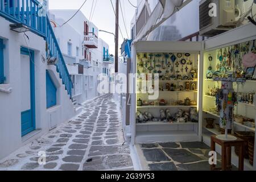
[[[0,159],[77,114],[46,11],[27,2],[0,1]]]

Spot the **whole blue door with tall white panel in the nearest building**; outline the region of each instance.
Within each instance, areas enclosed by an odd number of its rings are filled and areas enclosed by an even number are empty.
[[[20,49],[20,100],[22,137],[35,130],[34,51]]]

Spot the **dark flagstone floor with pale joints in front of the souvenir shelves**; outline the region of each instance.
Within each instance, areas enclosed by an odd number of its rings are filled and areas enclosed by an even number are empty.
[[[209,151],[203,142],[139,144],[144,170],[209,171]],[[217,155],[217,167],[221,167]],[[232,170],[237,170],[233,166]]]

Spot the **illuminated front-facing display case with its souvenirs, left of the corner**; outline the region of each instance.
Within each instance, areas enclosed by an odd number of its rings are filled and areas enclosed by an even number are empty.
[[[135,143],[199,141],[201,43],[138,42],[136,47]]]

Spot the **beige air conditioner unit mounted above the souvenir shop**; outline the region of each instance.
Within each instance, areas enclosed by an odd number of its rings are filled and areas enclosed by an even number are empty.
[[[217,5],[217,16],[209,16],[210,3]],[[203,0],[200,2],[200,35],[216,36],[236,27],[235,0]]]

